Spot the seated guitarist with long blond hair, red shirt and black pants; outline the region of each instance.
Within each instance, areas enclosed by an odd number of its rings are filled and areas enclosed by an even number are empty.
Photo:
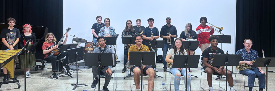
[[[66,44],[66,41],[67,41],[67,38],[68,38],[68,33],[66,32],[65,35],[66,35],[66,38],[64,39],[63,42],[61,42],[61,44],[64,44],[64,45]],[[44,57],[45,60],[48,61],[48,62],[51,62],[51,68],[52,68],[52,71],[53,71],[53,74],[51,75],[51,77],[53,79],[58,79],[58,77],[56,76],[56,73],[55,73],[56,72],[56,60],[59,60],[59,59],[64,58],[66,56],[64,64],[66,64],[65,68],[66,68],[66,70],[69,74],[70,74],[70,71],[69,71],[70,69],[67,69],[67,66],[68,66],[67,65],[68,64],[68,52],[67,51],[60,53],[60,55],[57,56],[57,57],[54,56],[54,55],[49,55],[48,54],[52,50],[58,48],[58,46],[59,46],[59,45],[55,45],[51,49],[47,50],[48,47],[50,47],[51,45],[54,44],[54,41],[56,41],[56,38],[55,38],[54,34],[53,33],[47,33],[47,35],[45,37],[45,42],[43,43],[43,46],[42,46],[42,52],[45,55],[45,57]]]

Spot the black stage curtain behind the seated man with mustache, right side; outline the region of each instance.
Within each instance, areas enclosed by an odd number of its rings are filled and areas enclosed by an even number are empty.
[[[242,49],[243,41],[251,39],[251,49],[259,57],[275,57],[275,1],[237,0],[236,6],[236,52]]]

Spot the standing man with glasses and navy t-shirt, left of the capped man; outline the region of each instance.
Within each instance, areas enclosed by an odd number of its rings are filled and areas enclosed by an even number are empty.
[[[149,18],[147,19],[148,21],[148,27],[144,28],[142,36],[143,39],[145,39],[145,43],[144,45],[147,46],[147,42],[150,41],[155,41],[157,40],[157,38],[159,38],[159,33],[158,33],[158,28],[154,27],[154,19],[153,18]],[[152,50],[151,50],[152,51]],[[156,53],[158,53],[158,48],[155,48]],[[156,69],[156,65],[152,65],[152,67],[154,68],[155,71],[158,71]]]

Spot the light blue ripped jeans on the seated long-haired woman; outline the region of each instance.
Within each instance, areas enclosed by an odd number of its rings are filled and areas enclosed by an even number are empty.
[[[186,75],[185,75],[185,68],[183,68],[181,72],[178,70],[178,68],[170,68],[170,72],[175,76],[175,79],[174,79],[174,88],[175,88],[175,91],[179,91],[180,80],[177,80],[177,73],[178,73],[178,75],[181,74],[184,77],[186,77]],[[181,78],[182,77],[181,75],[179,75],[178,77]],[[184,84],[187,86],[187,90],[185,88],[185,91],[189,91],[190,82],[191,82],[191,75],[190,75],[189,70],[187,69],[187,83],[184,80]]]

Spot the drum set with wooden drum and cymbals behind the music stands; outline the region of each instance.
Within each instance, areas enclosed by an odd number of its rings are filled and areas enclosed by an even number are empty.
[[[75,41],[77,43],[85,43],[85,47],[83,47],[83,53],[93,53],[94,49],[99,46],[98,43],[87,42],[87,40],[83,38],[78,38],[75,35],[72,37],[74,37],[72,38],[72,42]]]

